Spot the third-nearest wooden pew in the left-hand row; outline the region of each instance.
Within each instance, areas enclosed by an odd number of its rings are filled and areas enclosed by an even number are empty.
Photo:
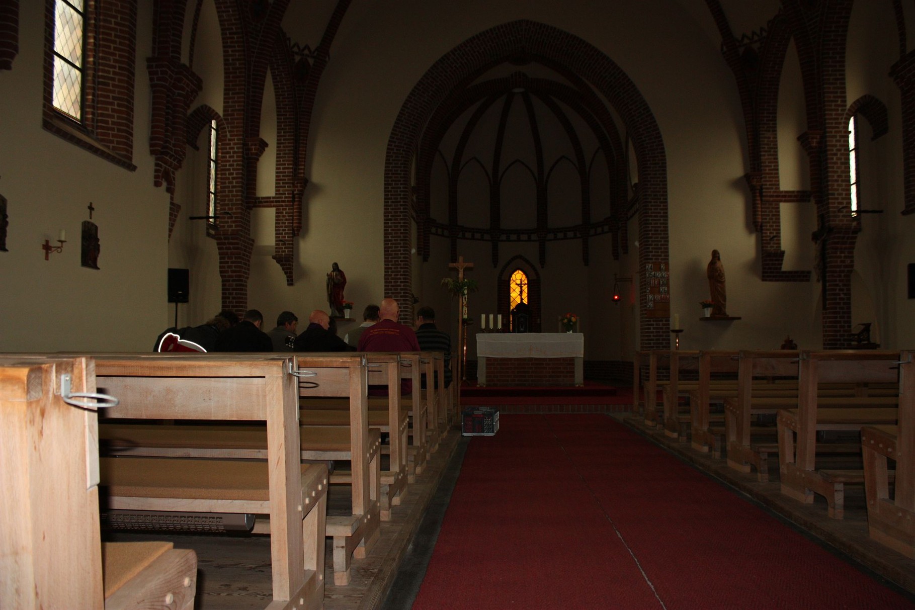
[[[143,355],[139,358],[156,359],[155,356]],[[249,355],[249,358],[255,357],[275,358]],[[350,582],[352,558],[364,558],[380,533],[380,438],[377,430],[371,433],[368,427],[367,361],[364,356],[352,353],[298,354],[291,358],[295,359],[297,370],[306,370],[308,375],[298,381],[298,396],[345,397],[349,407],[349,423],[343,427],[300,426],[296,421],[296,452],[300,445],[301,460],[350,461],[349,476],[338,477],[336,482],[351,487],[351,514],[328,517],[326,526],[327,535],[333,538],[334,545],[334,583],[344,585]],[[287,368],[294,370],[292,360]],[[293,381],[293,387],[295,383]],[[285,393],[283,396],[284,401],[288,400]],[[299,413],[297,399],[295,412],[296,415]],[[219,413],[213,417],[198,417],[190,413],[187,419],[258,418],[243,413],[239,417],[220,417]],[[121,455],[266,459],[270,455],[269,428],[269,422],[267,430],[262,426],[244,425],[165,428],[118,424],[103,427],[102,436],[108,441],[110,452]],[[289,431],[292,430],[290,427]],[[284,446],[288,450],[289,445]],[[274,519],[271,519],[269,527],[273,533]],[[255,532],[266,533],[266,530],[255,524]]]

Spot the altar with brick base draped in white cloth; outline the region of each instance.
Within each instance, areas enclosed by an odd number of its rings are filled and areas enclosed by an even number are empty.
[[[585,384],[582,333],[479,333],[477,384],[581,386]]]

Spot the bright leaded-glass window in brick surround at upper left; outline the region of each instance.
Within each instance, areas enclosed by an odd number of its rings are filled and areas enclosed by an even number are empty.
[[[83,0],[57,0],[54,6],[54,107],[82,119]]]

